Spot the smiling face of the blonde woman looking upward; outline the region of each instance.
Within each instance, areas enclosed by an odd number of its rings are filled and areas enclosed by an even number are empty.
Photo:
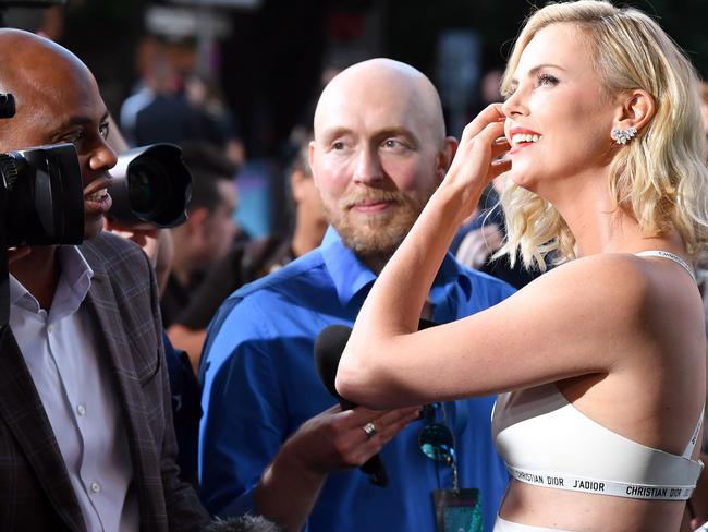
[[[608,166],[618,105],[603,89],[582,29],[552,24],[524,49],[502,110],[511,179],[545,197]],[[552,189],[551,189],[552,188]],[[572,190],[571,190],[572,189]]]

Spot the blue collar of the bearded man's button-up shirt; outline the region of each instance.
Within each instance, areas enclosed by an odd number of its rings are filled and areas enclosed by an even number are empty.
[[[349,302],[362,290],[369,289],[376,280],[376,275],[349,247],[333,227],[329,227],[320,246],[325,265],[334,282],[337,294],[342,305]],[[434,304],[447,294],[445,287],[459,282],[469,295],[472,285],[463,275],[462,267],[448,253],[440,265],[438,275],[432,282],[430,300]]]

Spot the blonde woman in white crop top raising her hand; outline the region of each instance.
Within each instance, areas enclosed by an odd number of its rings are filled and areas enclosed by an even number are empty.
[[[706,390],[696,74],[642,12],[578,1],[529,19],[502,88],[371,290],[338,390],[374,408],[502,392],[495,437],[513,481],[496,531],[678,530]],[[459,223],[506,170],[505,251],[563,264],[415,331]]]

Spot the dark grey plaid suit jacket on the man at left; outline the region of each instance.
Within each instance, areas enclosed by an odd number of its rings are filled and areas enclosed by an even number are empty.
[[[178,480],[152,270],[139,247],[102,233],[80,246],[94,270],[82,309],[100,337],[123,413],[141,530],[191,531],[208,517]],[[12,332],[0,338],[0,530],[85,531],[59,446]],[[88,531],[91,532],[91,531]]]

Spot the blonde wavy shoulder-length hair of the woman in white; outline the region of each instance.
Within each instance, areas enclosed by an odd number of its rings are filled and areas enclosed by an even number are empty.
[[[536,11],[522,29],[502,94],[508,94],[528,43],[558,23],[583,31],[595,57],[593,66],[610,95],[640,88],[652,96],[655,117],[612,161],[610,197],[646,234],[675,228],[696,258],[708,242],[708,169],[695,69],[659,25],[636,9],[595,0],[553,3]],[[575,238],[550,203],[509,182],[501,204],[508,235],[498,254],[509,254],[512,265],[518,254],[526,267],[541,270],[548,253],[557,264],[575,258]]]

